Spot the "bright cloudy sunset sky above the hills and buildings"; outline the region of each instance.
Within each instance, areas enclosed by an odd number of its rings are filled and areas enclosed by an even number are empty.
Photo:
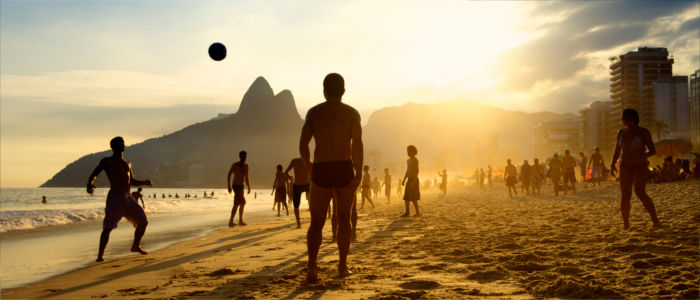
[[[234,113],[258,76],[302,116],[331,72],[363,122],[452,99],[577,113],[609,98],[608,58],[644,46],[700,69],[700,2],[0,0],[0,187]]]

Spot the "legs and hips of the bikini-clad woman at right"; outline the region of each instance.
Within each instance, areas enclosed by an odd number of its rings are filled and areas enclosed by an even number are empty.
[[[639,200],[642,201],[654,226],[661,226],[659,218],[656,216],[654,202],[646,193],[647,184],[646,165],[620,165],[620,191],[622,199],[620,201],[620,212],[625,229],[629,229],[630,199],[632,198],[632,187]]]

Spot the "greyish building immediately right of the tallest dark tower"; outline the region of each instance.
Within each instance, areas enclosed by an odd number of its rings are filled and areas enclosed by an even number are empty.
[[[644,110],[651,118],[644,126],[654,128],[656,125],[651,123],[661,120],[669,131],[661,138],[690,139],[688,76],[660,77],[645,87],[644,96]]]

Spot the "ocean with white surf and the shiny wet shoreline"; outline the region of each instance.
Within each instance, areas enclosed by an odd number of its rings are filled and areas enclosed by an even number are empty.
[[[21,286],[93,263],[107,192],[107,188],[98,188],[91,196],[84,188],[0,189],[0,288]],[[271,211],[270,192],[251,190],[246,195],[247,223],[277,218]],[[233,196],[224,189],[144,188],[142,193],[149,218],[142,242],[146,251],[226,228],[233,205]],[[185,194],[191,197],[185,198]],[[46,196],[46,204],[42,204],[42,196]],[[308,203],[302,201],[301,208],[305,211]],[[282,218],[294,222],[293,216]],[[123,219],[110,235],[105,259],[134,255],[129,252],[133,232],[133,226]]]

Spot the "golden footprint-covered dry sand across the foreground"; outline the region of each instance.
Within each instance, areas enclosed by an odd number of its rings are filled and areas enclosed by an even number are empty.
[[[700,183],[649,185],[665,227],[632,199],[622,230],[619,188],[509,198],[424,192],[420,218],[402,201],[360,212],[353,275],[336,278],[326,223],[317,284],[304,283],[306,230],[293,217],[216,231],[147,256],[95,263],[2,298],[699,298]],[[272,213],[272,212],[271,212]],[[308,214],[306,212],[303,212]],[[304,227],[308,226],[304,220]],[[148,236],[146,236],[148,239]]]

